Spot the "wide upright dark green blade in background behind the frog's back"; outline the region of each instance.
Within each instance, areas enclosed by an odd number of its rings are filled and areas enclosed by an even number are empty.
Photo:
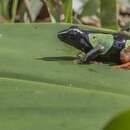
[[[101,23],[103,27],[117,29],[116,0],[101,0]]]

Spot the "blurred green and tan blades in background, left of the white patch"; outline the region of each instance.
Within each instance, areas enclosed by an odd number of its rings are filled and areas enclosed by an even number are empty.
[[[20,21],[35,22],[43,6],[47,6],[51,22],[72,22],[72,0],[1,0],[0,15],[15,22],[18,13]]]

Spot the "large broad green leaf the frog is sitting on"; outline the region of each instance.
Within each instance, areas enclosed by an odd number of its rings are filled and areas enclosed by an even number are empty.
[[[74,64],[57,39],[67,27],[0,25],[1,130],[102,130],[130,107],[130,72]]]

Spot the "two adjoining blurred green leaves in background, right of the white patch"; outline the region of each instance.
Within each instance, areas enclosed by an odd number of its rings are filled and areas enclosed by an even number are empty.
[[[116,0],[87,0],[83,5],[83,11],[81,15],[96,15],[101,19],[102,27],[117,29]]]

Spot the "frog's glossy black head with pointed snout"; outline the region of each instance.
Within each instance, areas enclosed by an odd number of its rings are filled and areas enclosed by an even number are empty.
[[[86,34],[77,26],[72,26],[64,31],[58,32],[58,38],[81,51],[86,51],[90,47],[86,44]]]

